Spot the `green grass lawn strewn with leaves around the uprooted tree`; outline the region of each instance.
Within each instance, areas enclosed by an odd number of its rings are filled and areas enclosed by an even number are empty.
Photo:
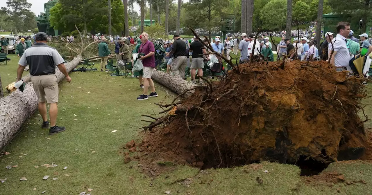
[[[14,56],[10,58],[8,66],[0,66],[3,84],[13,82],[16,77],[17,61]],[[57,125],[66,126],[67,130],[48,136],[48,131],[40,128],[41,117],[36,111],[3,149],[10,155],[0,157],[0,179],[7,178],[0,183],[0,195],[33,195],[42,191],[47,191],[45,194],[79,194],[87,188],[93,189],[89,192],[92,195],[159,195],[165,191],[183,195],[359,195],[372,192],[372,165],[365,162],[336,162],[325,171],[337,171],[344,174],[346,180],[363,179],[367,185],[306,184],[297,166],[269,162],[208,169],[208,173],[200,173],[190,166],[178,166],[172,172],[148,178],[138,168],[138,162],[124,164],[119,151],[126,142],[141,139],[139,128],[146,124],[140,121],[141,114],[156,113],[159,108],[154,103],[175,94],[156,85],[159,97],[137,101],[142,90],[136,78],[111,77],[98,71],[73,72],[71,78],[71,83],[60,84],[58,104]],[[371,103],[371,99],[366,99],[365,103]],[[367,114],[372,114],[371,106],[367,108]],[[371,124],[368,121],[366,125]],[[117,131],[110,133],[113,130]],[[58,166],[41,167],[53,162]],[[18,167],[5,169],[8,165]],[[68,168],[62,169],[65,166]],[[269,172],[264,173],[264,170]],[[43,180],[46,175],[49,179]],[[257,176],[263,179],[262,184],[256,182]],[[28,180],[20,181],[21,177]],[[58,179],[53,181],[52,178]],[[182,183],[186,178],[189,183]]]

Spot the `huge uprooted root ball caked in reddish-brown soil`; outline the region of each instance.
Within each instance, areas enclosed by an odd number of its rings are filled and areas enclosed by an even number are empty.
[[[319,166],[363,156],[369,143],[357,114],[366,97],[363,78],[324,61],[294,61],[283,69],[280,63],[239,65],[227,78],[197,88],[164,125],[145,133],[142,164],[203,169],[312,160]]]

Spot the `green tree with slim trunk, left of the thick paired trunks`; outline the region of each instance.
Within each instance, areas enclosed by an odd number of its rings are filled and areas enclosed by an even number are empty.
[[[207,29],[211,39],[211,29],[221,26],[221,17],[225,14],[223,10],[228,4],[226,0],[190,0],[185,5],[186,26]]]

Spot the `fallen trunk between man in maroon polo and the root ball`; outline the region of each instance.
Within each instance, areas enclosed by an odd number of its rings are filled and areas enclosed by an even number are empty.
[[[190,90],[198,86],[197,84],[192,84],[191,82],[184,80],[181,77],[176,77],[176,76],[167,74],[163,71],[154,71],[154,74],[151,77],[151,79],[164,85],[165,87],[176,92],[177,94],[182,94],[186,90]],[[186,92],[185,95],[190,96],[191,92]]]

